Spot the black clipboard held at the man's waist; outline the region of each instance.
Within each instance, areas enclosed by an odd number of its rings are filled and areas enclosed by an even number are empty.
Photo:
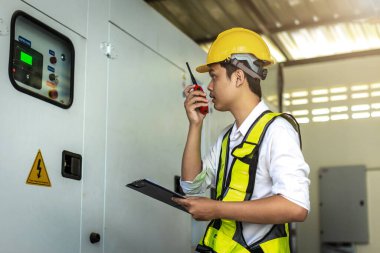
[[[179,210],[182,210],[188,213],[184,207],[178,205],[172,200],[172,197],[184,199],[185,196],[178,194],[176,192],[173,192],[169,189],[166,189],[165,187],[162,187],[158,184],[155,184],[152,181],[149,181],[148,179],[136,180],[136,181],[133,181],[132,183],[127,184],[126,186],[135,191],[141,192],[142,194],[145,194],[151,198],[157,199],[161,202],[164,202],[165,204],[168,204],[172,207],[178,208]]]

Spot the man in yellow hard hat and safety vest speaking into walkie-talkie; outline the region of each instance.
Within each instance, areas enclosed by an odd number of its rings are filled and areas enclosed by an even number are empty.
[[[208,105],[206,94],[185,88],[189,132],[182,158],[181,186],[187,194],[216,188],[216,200],[173,199],[197,220],[211,220],[198,252],[288,253],[289,222],[307,217],[309,167],[300,150],[298,124],[286,114],[269,112],[261,100],[260,79],[273,63],[262,38],[247,29],[219,34],[207,63],[214,108],[229,111],[235,123],[220,134],[201,160],[200,142]]]

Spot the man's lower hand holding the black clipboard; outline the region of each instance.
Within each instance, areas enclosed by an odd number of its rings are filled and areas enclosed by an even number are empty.
[[[205,197],[173,198],[172,200],[183,206],[196,220],[207,221],[219,218],[218,208],[220,201]]]

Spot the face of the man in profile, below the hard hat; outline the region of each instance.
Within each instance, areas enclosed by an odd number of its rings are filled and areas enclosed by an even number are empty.
[[[214,108],[218,111],[229,111],[236,101],[236,88],[234,85],[235,74],[228,78],[226,69],[219,63],[209,66],[211,81],[207,87]]]

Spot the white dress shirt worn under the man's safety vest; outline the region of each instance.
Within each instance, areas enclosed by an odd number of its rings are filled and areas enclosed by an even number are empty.
[[[268,106],[261,101],[248,115],[239,128],[233,125],[230,134],[228,173],[233,157],[231,151],[239,145],[253,122]],[[219,135],[216,144],[202,160],[202,172],[193,181],[181,181],[185,193],[199,194],[215,187],[222,140],[231,126]],[[255,187],[251,199],[261,199],[279,194],[284,198],[310,210],[309,166],[300,150],[298,133],[284,118],[277,117],[268,127],[259,150]],[[243,222],[243,235],[248,245],[260,240],[272,225]]]

